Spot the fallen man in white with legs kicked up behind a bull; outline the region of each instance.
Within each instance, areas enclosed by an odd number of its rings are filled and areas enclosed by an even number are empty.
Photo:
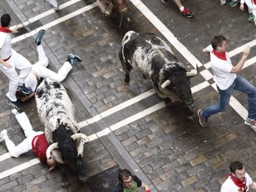
[[[72,65],[82,61],[79,56],[69,54],[69,56],[67,57],[67,61],[64,62],[61,69],[59,69],[58,73],[47,69],[46,67],[49,64],[48,57],[45,54],[43,46],[41,46],[41,38],[44,34],[45,30],[40,30],[35,38],[35,42],[38,45],[36,47],[36,50],[38,52],[38,62],[36,62],[32,66],[31,72],[25,78],[21,91],[24,94],[29,95],[25,96],[25,98],[23,98],[22,101],[26,101],[27,99],[32,98],[32,96],[34,96],[40,78],[50,78],[51,80],[61,82],[67,77],[67,74],[70,72],[70,70],[72,70]]]

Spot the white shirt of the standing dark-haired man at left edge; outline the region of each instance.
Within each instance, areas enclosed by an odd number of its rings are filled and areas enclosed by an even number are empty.
[[[0,32],[0,57],[7,59],[11,54],[11,33]]]

